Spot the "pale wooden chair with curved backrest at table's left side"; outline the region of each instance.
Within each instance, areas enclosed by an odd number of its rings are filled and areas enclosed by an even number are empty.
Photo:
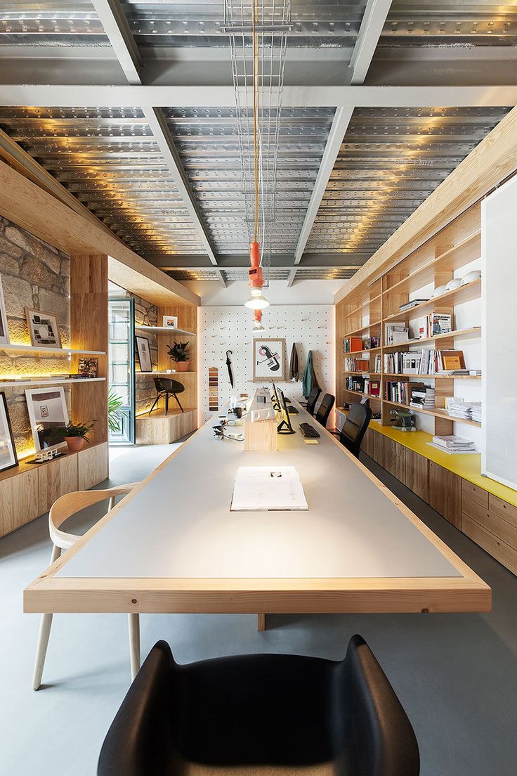
[[[53,542],[52,555],[50,563],[59,558],[62,549],[70,549],[71,546],[81,539],[80,536],[61,531],[60,525],[65,520],[77,514],[81,509],[98,504],[99,501],[109,499],[108,512],[115,506],[115,498],[130,493],[139,483],[128,483],[106,490],[76,490],[74,493],[68,493],[54,501],[49,512],[49,532],[50,539]],[[107,513],[106,513],[107,514]],[[45,656],[49,643],[50,626],[52,625],[52,614],[41,615],[40,632],[38,634],[38,643],[36,646],[36,664],[34,666],[33,690],[37,690],[41,685],[43,675],[43,666],[45,665]],[[140,617],[137,614],[129,614],[129,656],[131,659],[131,678],[134,679],[140,668]]]

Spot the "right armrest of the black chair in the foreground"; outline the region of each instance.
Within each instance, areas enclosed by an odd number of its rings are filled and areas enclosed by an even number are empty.
[[[411,722],[360,636],[350,639],[345,662],[350,773],[419,776],[419,745]]]

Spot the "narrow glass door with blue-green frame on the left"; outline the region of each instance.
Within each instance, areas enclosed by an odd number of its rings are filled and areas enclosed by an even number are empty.
[[[126,296],[109,297],[109,443],[135,442],[135,349],[134,304]]]

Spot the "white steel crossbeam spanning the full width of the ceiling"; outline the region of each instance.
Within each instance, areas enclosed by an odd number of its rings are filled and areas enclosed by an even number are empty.
[[[274,91],[274,90],[273,90]],[[123,106],[235,107],[233,86],[0,85],[2,106],[57,108]],[[284,86],[285,108],[505,107],[517,105],[517,85]]]

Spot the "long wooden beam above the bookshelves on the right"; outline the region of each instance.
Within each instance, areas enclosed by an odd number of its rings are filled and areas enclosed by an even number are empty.
[[[440,183],[359,272],[334,295],[334,304],[382,275],[517,170],[517,108],[502,119]]]

